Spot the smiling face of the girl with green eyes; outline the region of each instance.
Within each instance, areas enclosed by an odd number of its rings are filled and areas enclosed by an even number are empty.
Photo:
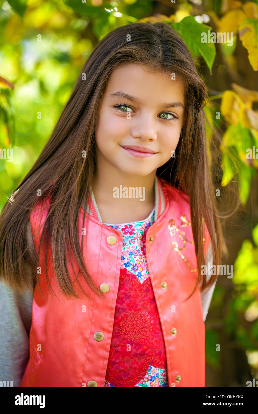
[[[97,168],[147,176],[171,158],[185,105],[183,83],[171,77],[133,63],[112,72],[96,120]]]

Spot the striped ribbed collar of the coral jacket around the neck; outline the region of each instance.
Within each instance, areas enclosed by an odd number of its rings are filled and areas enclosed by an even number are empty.
[[[165,209],[165,196],[164,196],[164,191],[163,191],[163,188],[162,188],[162,183],[159,180],[159,178],[157,178],[156,175],[155,175],[155,179],[154,179],[154,193],[155,193],[154,221],[156,221],[157,218],[160,216],[160,214],[162,214],[164,212],[164,209]],[[84,200],[83,200],[83,203],[82,203],[82,207],[83,207],[83,209],[85,208],[85,201]],[[92,188],[90,188],[90,194],[89,194],[89,198],[88,198],[88,202],[87,202],[86,212],[90,216],[94,217],[96,220],[98,220],[102,223],[101,216],[99,214],[99,209],[97,207],[96,200],[94,198]]]

